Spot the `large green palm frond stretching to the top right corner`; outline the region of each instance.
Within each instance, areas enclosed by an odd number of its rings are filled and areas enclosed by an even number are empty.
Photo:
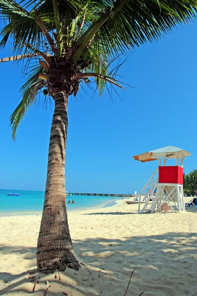
[[[94,36],[99,35],[111,52],[152,42],[182,22],[195,17],[195,0],[106,0],[103,13],[76,41],[75,60]]]

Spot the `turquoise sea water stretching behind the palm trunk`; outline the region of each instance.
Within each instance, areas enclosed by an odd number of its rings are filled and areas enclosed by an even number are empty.
[[[9,196],[6,193],[19,193],[19,196]],[[68,204],[68,200],[74,204]],[[67,211],[78,211],[88,208],[111,206],[122,197],[72,195],[66,196]],[[0,215],[17,213],[41,212],[44,202],[44,191],[0,189]]]

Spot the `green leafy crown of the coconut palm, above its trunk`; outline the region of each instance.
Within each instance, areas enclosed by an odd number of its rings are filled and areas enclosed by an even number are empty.
[[[188,21],[196,7],[195,0],[0,0],[0,48],[11,40],[16,55],[0,62],[27,60],[22,101],[10,118],[13,138],[41,89],[53,97],[63,83],[76,95],[88,77],[99,94],[106,82],[120,86],[108,76],[112,59]]]

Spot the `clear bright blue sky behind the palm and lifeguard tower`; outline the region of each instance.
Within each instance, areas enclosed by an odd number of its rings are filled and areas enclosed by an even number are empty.
[[[197,23],[129,53],[119,71],[135,87],[69,101],[66,189],[75,192],[139,191],[157,167],[132,156],[172,145],[192,153],[184,171],[197,168]],[[11,44],[10,44],[11,47]],[[9,55],[0,50],[0,58]],[[9,116],[19,103],[22,69],[0,64],[0,188],[44,190],[52,110],[33,106],[12,142]]]

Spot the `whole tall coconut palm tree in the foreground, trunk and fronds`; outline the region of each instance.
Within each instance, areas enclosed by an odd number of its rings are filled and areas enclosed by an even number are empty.
[[[195,16],[195,0],[0,0],[0,47],[13,42],[13,56],[26,61],[22,101],[12,113],[13,139],[38,94],[54,100],[44,207],[37,243],[43,273],[80,267],[66,214],[65,154],[68,97],[95,77],[99,94],[106,83],[122,87],[109,72],[120,53],[157,40]],[[123,87],[122,87],[123,88]]]

